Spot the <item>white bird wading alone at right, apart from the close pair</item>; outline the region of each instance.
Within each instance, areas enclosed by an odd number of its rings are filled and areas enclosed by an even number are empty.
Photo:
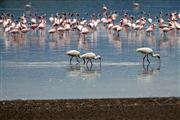
[[[148,63],[150,64],[150,61],[148,59],[148,55],[151,55],[152,57],[157,57],[159,59],[159,61],[160,61],[160,55],[159,54],[155,54],[151,48],[143,47],[143,48],[138,48],[136,51],[140,52],[142,54],[145,54],[145,56],[143,58],[143,65],[144,65],[144,59],[146,57],[147,57]]]

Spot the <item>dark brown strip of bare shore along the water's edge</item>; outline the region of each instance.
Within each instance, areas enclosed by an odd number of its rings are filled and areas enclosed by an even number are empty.
[[[1,120],[178,120],[180,98],[0,101]]]

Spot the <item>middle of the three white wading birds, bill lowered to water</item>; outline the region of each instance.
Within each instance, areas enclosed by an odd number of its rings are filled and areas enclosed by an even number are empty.
[[[91,61],[92,59],[100,60],[100,64],[101,64],[101,56],[96,55],[95,53],[92,53],[92,52],[85,53],[85,54],[81,55],[80,58],[82,58],[84,60],[84,64],[86,63],[85,59],[88,60],[86,65],[88,64],[89,61],[91,62],[91,65],[92,65],[92,61]]]

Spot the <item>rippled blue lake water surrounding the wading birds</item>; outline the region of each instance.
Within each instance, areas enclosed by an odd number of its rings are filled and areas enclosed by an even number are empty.
[[[173,2],[172,2],[173,1]],[[157,16],[160,11],[179,11],[177,0],[141,1],[140,8],[133,9],[130,0],[32,0],[32,12],[51,13],[78,12],[89,19],[90,14],[101,12],[103,3],[110,10],[124,11],[137,17],[141,11]],[[1,0],[0,12],[11,12],[15,18],[25,11],[27,1]],[[47,6],[48,5],[48,6]],[[89,14],[89,16],[87,15]],[[165,18],[166,19],[166,18]],[[105,27],[78,40],[71,31],[59,38],[29,32],[13,40],[0,30],[1,80],[0,100],[4,99],[66,99],[66,98],[123,98],[123,97],[180,97],[180,33],[161,35],[156,29],[153,36],[144,32],[120,32],[114,36]],[[139,47],[151,47],[161,54],[161,64],[150,57],[151,64],[142,65],[143,55],[136,52]],[[78,49],[81,53],[95,52],[102,56],[102,63],[93,66],[69,65],[65,52]]]

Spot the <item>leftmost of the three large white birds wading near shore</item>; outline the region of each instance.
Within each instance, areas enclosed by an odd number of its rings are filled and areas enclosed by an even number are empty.
[[[78,60],[78,57],[80,57],[80,52],[79,51],[77,51],[77,50],[69,50],[69,51],[66,52],[66,55],[71,56],[71,58],[70,58],[70,65],[72,64],[71,61],[72,61],[73,57],[76,57],[76,61],[78,63],[80,63],[79,60]]]

